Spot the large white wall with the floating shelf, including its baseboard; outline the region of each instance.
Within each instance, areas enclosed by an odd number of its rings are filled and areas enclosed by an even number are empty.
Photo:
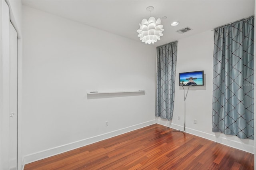
[[[155,123],[154,46],[26,6],[22,19],[25,164]]]

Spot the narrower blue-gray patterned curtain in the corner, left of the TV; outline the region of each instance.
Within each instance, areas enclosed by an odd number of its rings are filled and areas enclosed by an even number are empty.
[[[174,106],[177,42],[156,48],[156,117],[172,119]]]

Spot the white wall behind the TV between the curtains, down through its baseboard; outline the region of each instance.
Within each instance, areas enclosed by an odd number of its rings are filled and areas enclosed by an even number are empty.
[[[214,32],[209,30],[178,41],[174,115],[172,122],[157,119],[158,123],[183,131],[184,91],[179,87],[178,73],[204,70],[205,85],[190,87],[186,98],[186,132],[240,150],[254,153],[254,141],[212,132],[212,62]],[[185,88],[185,95],[188,87]],[[178,116],[181,120],[178,121]],[[194,119],[197,124],[194,124]]]

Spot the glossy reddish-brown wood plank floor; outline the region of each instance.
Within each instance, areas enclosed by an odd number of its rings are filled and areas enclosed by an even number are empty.
[[[154,124],[25,165],[25,170],[253,170],[254,155]]]

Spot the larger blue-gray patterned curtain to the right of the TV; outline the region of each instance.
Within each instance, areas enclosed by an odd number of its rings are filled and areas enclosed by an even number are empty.
[[[254,138],[254,16],[214,29],[212,132]]]

